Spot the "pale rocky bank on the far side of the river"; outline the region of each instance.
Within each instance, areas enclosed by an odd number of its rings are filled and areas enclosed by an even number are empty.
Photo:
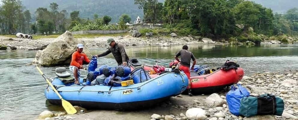
[[[173,45],[184,45],[184,44],[203,44],[203,43],[220,43],[211,41],[206,38],[196,39],[195,37],[142,37],[135,38],[131,35],[126,36],[100,36],[94,38],[77,38],[85,41],[89,48],[107,48],[106,40],[108,38],[114,38],[116,42],[122,43],[125,46],[173,46]],[[30,40],[26,38],[9,38],[0,36],[0,43],[9,47],[16,47],[17,50],[42,50],[45,49],[49,43],[55,38],[41,38],[37,40]],[[222,44],[222,43],[221,43]]]

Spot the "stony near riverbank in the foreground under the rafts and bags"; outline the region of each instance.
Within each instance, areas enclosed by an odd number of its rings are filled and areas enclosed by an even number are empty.
[[[246,87],[251,95],[259,95],[270,93],[283,99],[285,103],[282,116],[253,116],[242,117],[235,116],[229,112],[226,103],[225,89],[211,95],[186,96],[179,95],[172,97],[169,101],[157,105],[150,110],[140,110],[135,112],[118,112],[107,110],[95,110],[85,113],[80,109],[80,113],[75,115],[64,115],[56,113],[55,116],[49,113],[52,118],[48,120],[97,120],[97,119],[148,119],[148,120],[190,120],[201,118],[207,120],[294,120],[298,119],[298,72],[286,71],[283,73],[256,73],[252,76],[244,76],[239,82],[243,87]],[[213,102],[212,102],[213,101]],[[86,111],[86,110],[85,110]],[[170,114],[169,114],[170,113]],[[58,115],[60,114],[60,115]],[[43,120],[43,119],[42,119]]]

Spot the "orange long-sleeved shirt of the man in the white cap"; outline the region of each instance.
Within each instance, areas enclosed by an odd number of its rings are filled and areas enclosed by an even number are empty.
[[[83,65],[83,60],[85,60],[87,63],[90,62],[86,54],[76,51],[72,53],[72,62],[70,63],[70,65],[79,68],[80,65]]]

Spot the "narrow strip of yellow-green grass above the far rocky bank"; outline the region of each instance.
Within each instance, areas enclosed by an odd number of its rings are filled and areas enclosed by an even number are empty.
[[[100,37],[100,36],[111,36],[111,37],[115,37],[115,36],[125,36],[125,35],[129,35],[129,33],[125,32],[125,33],[117,33],[117,34],[82,34],[82,35],[73,35],[75,38],[96,38],[96,37]],[[17,38],[15,35],[0,35],[0,36],[4,36],[4,37],[9,37],[9,38]],[[37,40],[37,39],[41,39],[41,38],[57,38],[60,35],[36,35],[33,36],[33,40]]]

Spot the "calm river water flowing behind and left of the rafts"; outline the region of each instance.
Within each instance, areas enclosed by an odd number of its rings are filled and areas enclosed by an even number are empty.
[[[126,47],[130,58],[140,63],[155,64],[144,57],[170,63],[182,46]],[[91,54],[99,54],[106,49],[91,49]],[[189,45],[197,59],[197,64],[219,67],[226,60],[237,61],[245,75],[263,71],[296,70],[298,67],[298,45],[231,46],[231,45]],[[44,110],[59,111],[63,107],[46,102],[44,88],[46,81],[31,63],[36,51],[0,51],[0,119],[22,120],[36,119]],[[98,65],[116,65],[113,56],[98,59]],[[162,65],[159,63],[159,65]],[[166,65],[165,65],[166,66]],[[56,66],[57,67],[57,66]],[[55,76],[56,67],[40,67],[49,76]],[[65,66],[68,67],[68,66]],[[85,68],[88,66],[85,65]],[[82,72],[82,74],[87,74]],[[148,113],[150,114],[150,113]]]

